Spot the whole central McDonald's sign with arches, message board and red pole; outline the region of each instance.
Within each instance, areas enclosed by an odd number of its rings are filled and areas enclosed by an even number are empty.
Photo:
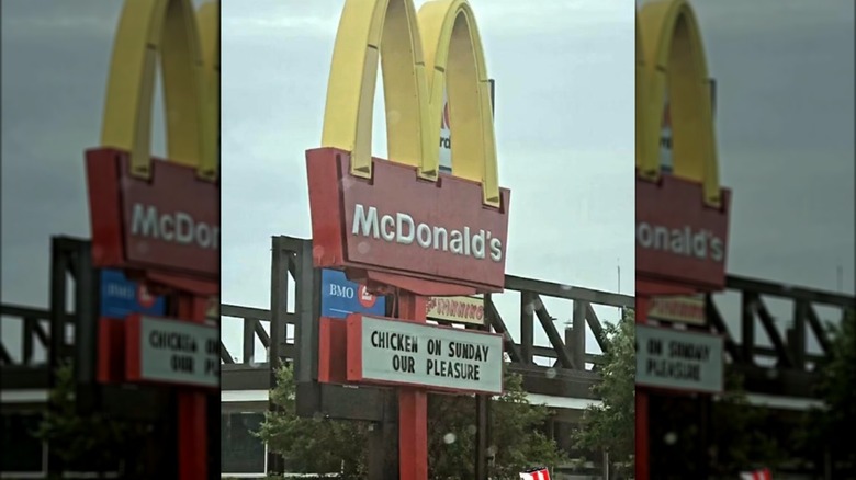
[[[395,386],[398,478],[426,480],[427,390],[500,393],[503,374],[502,336],[426,325],[427,297],[503,290],[510,193],[469,3],[427,2],[417,18],[405,1],[346,1],[323,148],[306,152],[306,170],[315,266],[397,297],[397,319],[320,319],[318,381]],[[371,155],[381,45],[390,160]],[[451,174],[440,173],[443,126]]]

